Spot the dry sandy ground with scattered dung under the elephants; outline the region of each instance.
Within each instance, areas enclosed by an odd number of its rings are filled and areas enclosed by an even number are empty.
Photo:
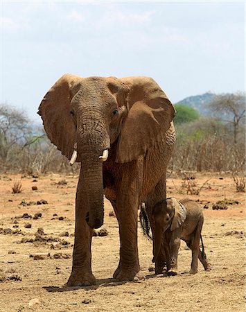
[[[13,194],[11,187],[20,179],[23,191]],[[245,193],[236,193],[234,180],[226,175],[196,174],[194,188],[208,179],[200,195],[188,197],[199,199],[201,207],[209,206],[204,209],[203,237],[207,257],[213,264],[210,272],[200,265],[196,275],[188,274],[191,252],[182,243],[179,275],[155,276],[149,270],[153,267],[151,244],[139,229],[139,259],[146,279],[116,283],[112,274],[118,265],[118,224],[114,216],[109,216],[112,207],[105,200],[103,227],[109,234],[94,237],[92,243],[97,284],[69,288],[64,284],[71,272],[77,178],[1,175],[0,311],[245,311]],[[57,184],[62,180],[67,184]],[[181,176],[169,177],[167,185],[168,196],[186,197]],[[33,186],[37,186],[36,191],[31,189]],[[212,209],[213,202],[225,198],[238,200],[239,204],[229,205],[227,210]],[[41,199],[48,204],[20,205],[21,200]],[[37,220],[21,218],[24,213],[34,216],[37,212],[42,213]],[[24,227],[25,223],[31,227]],[[41,237],[45,241],[27,242],[35,239],[39,227],[44,229],[46,235]],[[8,228],[21,229],[21,234],[13,234]],[[60,236],[62,232],[69,236]],[[50,257],[30,257],[37,252],[49,252]]]

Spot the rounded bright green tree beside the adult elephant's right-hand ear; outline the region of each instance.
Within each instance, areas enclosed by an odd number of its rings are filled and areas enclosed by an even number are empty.
[[[180,125],[182,123],[191,123],[197,119],[200,119],[200,114],[192,107],[188,107],[184,104],[175,105],[176,115],[174,118],[174,123]]]

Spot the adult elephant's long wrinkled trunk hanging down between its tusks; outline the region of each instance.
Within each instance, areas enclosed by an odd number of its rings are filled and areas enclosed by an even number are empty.
[[[81,159],[80,185],[85,198],[82,205],[87,207],[85,219],[89,227],[96,229],[103,225],[103,162],[107,160],[104,150],[110,143],[105,128],[90,123],[84,122],[82,130],[78,128],[77,151]]]

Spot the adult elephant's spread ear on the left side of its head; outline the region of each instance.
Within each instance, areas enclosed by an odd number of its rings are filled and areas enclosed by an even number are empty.
[[[78,92],[81,81],[82,78],[69,73],[62,76],[46,93],[37,112],[42,117],[47,136],[68,159],[76,140],[76,125],[70,114],[71,99]]]

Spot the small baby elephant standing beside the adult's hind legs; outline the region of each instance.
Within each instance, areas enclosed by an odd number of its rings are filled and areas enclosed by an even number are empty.
[[[178,201],[166,198],[158,202],[153,210],[155,233],[153,234],[153,252],[155,272],[162,272],[162,263],[158,263],[161,243],[164,244],[168,275],[177,275],[177,254],[180,239],[186,242],[192,250],[191,274],[197,273],[197,259],[202,262],[205,270],[210,270],[210,264],[204,252],[202,243],[203,214],[199,205],[188,198]],[[200,239],[202,251],[200,250]],[[163,240],[163,241],[162,241]]]

